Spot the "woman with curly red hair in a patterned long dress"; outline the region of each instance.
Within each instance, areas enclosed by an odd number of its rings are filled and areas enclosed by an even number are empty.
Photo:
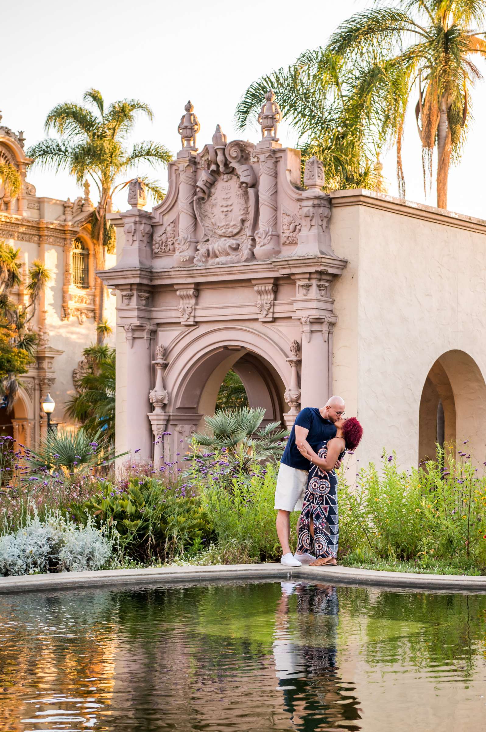
[[[311,461],[304,504],[298,526],[296,555],[314,555],[310,567],[337,564],[338,556],[338,478],[334,472],[337,460],[346,450],[354,450],[362,436],[356,417],[341,417],[335,423],[336,436],[321,442],[317,454],[297,444],[302,455]]]

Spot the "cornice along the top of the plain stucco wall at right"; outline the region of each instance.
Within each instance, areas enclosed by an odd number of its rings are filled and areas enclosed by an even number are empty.
[[[392,195],[374,193],[371,190],[357,188],[355,190],[335,190],[330,193],[331,211],[341,206],[368,206],[400,216],[409,216],[422,219],[443,226],[475,231],[477,234],[486,234],[486,220],[476,219],[473,216],[456,214],[452,211],[437,209],[436,206],[426,206],[425,203],[406,201],[403,198],[394,198]]]

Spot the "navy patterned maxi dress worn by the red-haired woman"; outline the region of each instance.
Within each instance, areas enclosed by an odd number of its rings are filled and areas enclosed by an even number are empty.
[[[316,450],[319,458],[327,456],[327,440]],[[342,460],[346,450],[341,452]],[[311,534],[314,523],[314,537]],[[324,471],[316,465],[309,471],[304,503],[300,513],[297,539],[298,554],[321,557],[338,556],[338,477],[335,471]]]

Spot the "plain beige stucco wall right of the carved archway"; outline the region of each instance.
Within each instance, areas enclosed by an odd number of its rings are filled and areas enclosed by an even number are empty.
[[[379,460],[384,447],[403,466],[417,465],[420,397],[436,359],[458,349],[486,374],[486,226],[384,197],[343,206],[357,193],[333,194],[333,248],[349,260],[333,287],[334,391],[365,427],[362,463]],[[482,384],[461,367],[463,356],[448,359],[457,439],[473,438],[482,462]]]

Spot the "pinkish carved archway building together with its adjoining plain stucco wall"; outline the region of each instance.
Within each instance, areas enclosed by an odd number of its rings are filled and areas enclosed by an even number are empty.
[[[199,151],[188,102],[164,201],[146,212],[135,179],[130,209],[112,215],[118,261],[100,275],[118,293],[118,452],[186,449],[229,368],[251,406],[288,426],[342,395],[365,425],[365,459],[386,446],[413,465],[462,436],[484,451],[486,223],[327,195],[315,157],[302,186],[280,119],[269,91],[257,143],[218,125]]]

